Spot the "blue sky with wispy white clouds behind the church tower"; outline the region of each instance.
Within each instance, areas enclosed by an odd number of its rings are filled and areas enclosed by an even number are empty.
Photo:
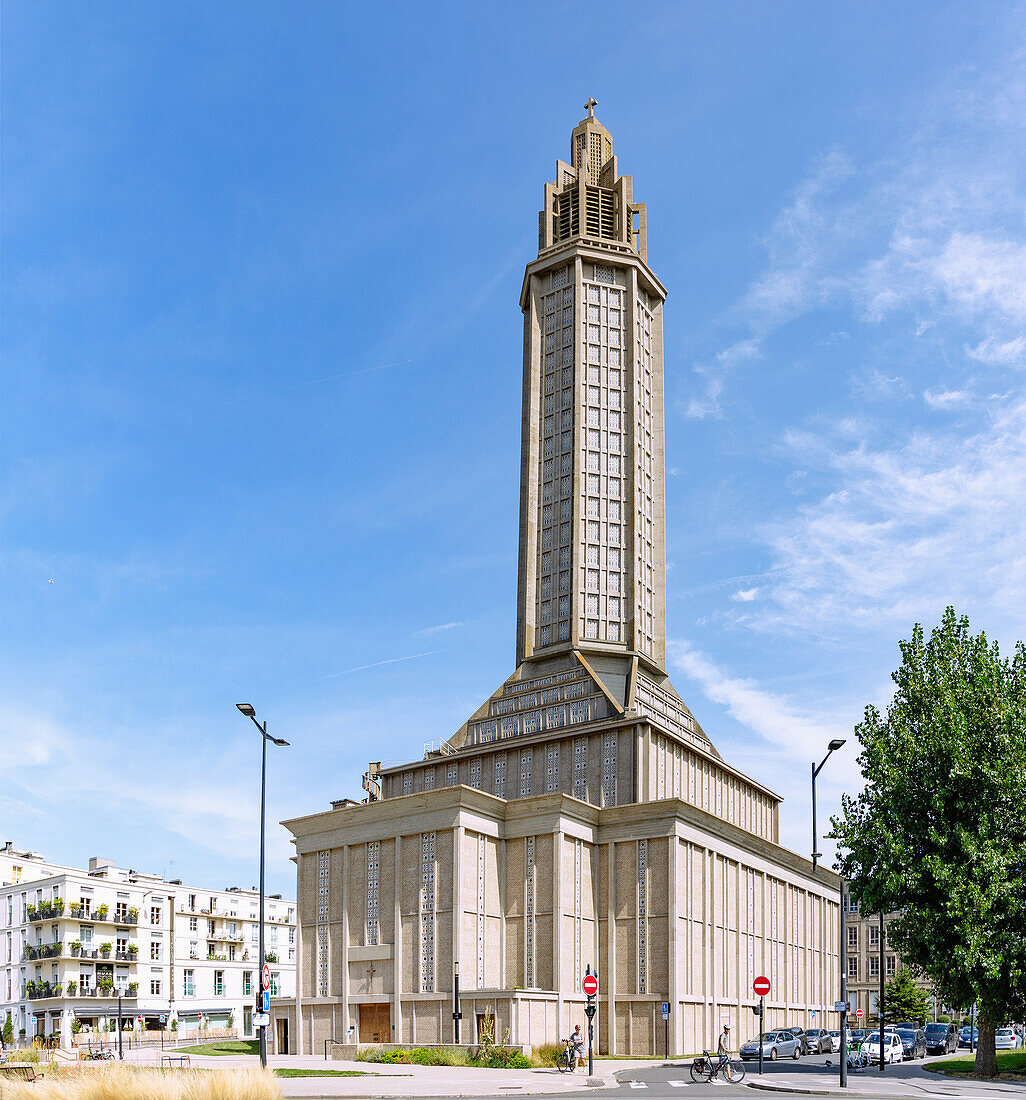
[[[1026,636],[1024,47],[996,3],[8,0],[0,839],[250,886],[236,701],[282,818],[512,671],[517,299],[591,95],[670,290],[671,674],[807,850],[914,622]]]

